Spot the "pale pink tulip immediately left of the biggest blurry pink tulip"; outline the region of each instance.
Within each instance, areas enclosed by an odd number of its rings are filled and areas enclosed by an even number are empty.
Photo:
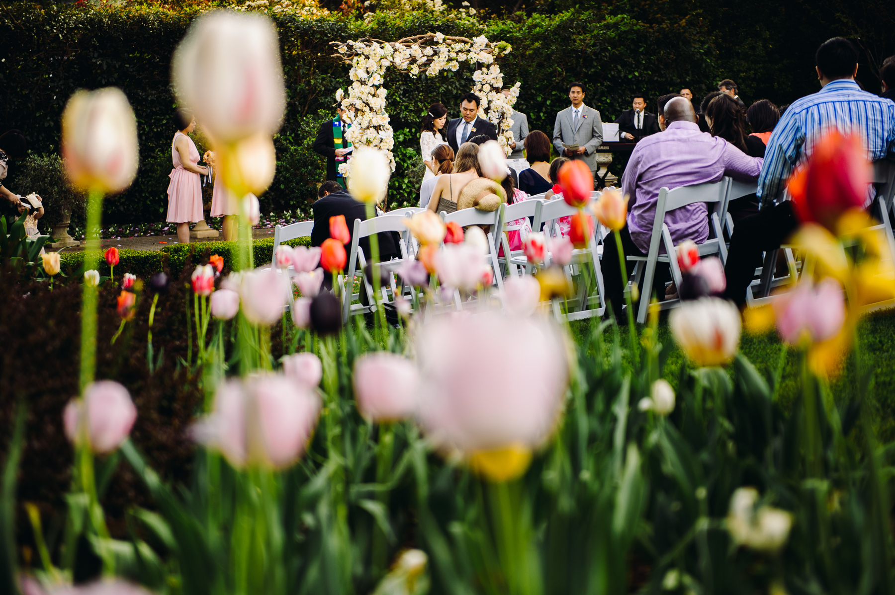
[[[378,352],[354,362],[354,395],[364,419],[394,422],[413,415],[420,374],[405,357]]]

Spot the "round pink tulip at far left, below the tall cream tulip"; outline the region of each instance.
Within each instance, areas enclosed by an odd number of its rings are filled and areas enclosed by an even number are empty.
[[[115,381],[93,382],[83,398],[69,401],[63,415],[68,439],[80,444],[86,438],[90,449],[100,455],[121,446],[136,420],[131,395]]]

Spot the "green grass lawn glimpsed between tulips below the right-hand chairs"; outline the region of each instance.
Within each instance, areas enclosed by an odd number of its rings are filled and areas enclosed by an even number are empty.
[[[586,333],[590,322],[572,323],[572,332],[578,339]],[[883,442],[895,440],[895,309],[883,310],[865,315],[858,325],[858,349],[864,365],[872,370],[870,402],[876,409],[877,436]],[[662,343],[674,342],[668,325],[668,313],[662,313],[659,323],[659,339]],[[784,410],[788,410],[798,396],[799,354],[796,349],[787,348],[776,332],[764,335],[743,333],[740,350],[749,358],[765,378],[772,379],[783,358],[780,386],[776,398]],[[663,376],[677,387],[680,367],[693,367],[686,361],[684,353],[675,346],[662,371]],[[855,397],[857,377],[854,354],[849,353],[841,373],[830,381],[830,388],[837,403]]]

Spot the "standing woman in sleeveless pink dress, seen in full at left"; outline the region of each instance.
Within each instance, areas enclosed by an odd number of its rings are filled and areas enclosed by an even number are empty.
[[[167,221],[177,223],[177,241],[190,243],[190,223],[204,219],[202,215],[202,183],[200,175],[208,175],[209,168],[199,166],[199,149],[186,136],[196,130],[196,119],[190,110],[177,110],[180,130],[171,143],[171,183],[168,184]]]

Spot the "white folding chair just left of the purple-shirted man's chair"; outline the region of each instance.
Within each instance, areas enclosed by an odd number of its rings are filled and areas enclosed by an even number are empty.
[[[594,192],[591,196],[594,197],[595,194],[599,194]],[[558,222],[561,217],[571,216],[576,214],[578,209],[574,206],[567,205],[564,200],[548,200],[543,203],[541,206],[541,218],[540,222],[544,223],[544,233],[550,238],[556,238],[560,234]],[[567,300],[567,306],[570,306],[570,311],[566,312],[566,314],[562,314],[559,310],[559,304],[557,300],[553,302],[553,314],[560,319],[567,320],[579,320],[583,318],[589,318],[591,316],[601,316],[603,312],[606,310],[606,298],[605,292],[603,290],[603,275],[600,268],[600,254],[597,250],[598,239],[601,236],[600,233],[600,222],[596,221],[596,217],[593,217],[590,213],[585,213],[593,218],[593,233],[590,239],[588,239],[586,248],[575,248],[572,250],[572,260],[570,264],[565,266],[566,275],[569,281],[571,281],[572,274],[575,273],[575,269],[578,269],[582,275],[581,281],[578,283],[578,293],[577,296],[571,300]],[[535,223],[538,223],[538,227],[540,227],[540,222],[538,218],[535,218]],[[552,256],[550,253],[547,255],[547,262],[544,264],[550,264],[550,260],[552,260]],[[597,290],[597,295],[593,296],[588,283],[584,282],[584,271],[581,270],[581,266],[583,264],[590,263],[593,265],[593,272],[595,277],[595,285],[594,289]],[[595,307],[592,307],[595,306]]]

